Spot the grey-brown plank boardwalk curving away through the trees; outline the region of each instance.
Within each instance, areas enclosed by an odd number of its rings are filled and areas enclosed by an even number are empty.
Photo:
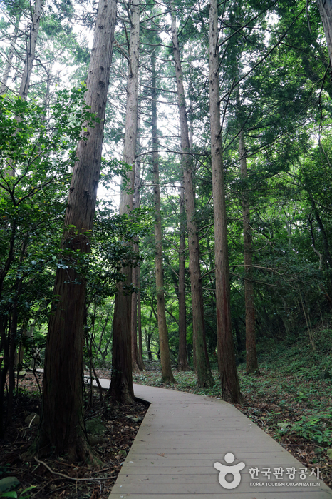
[[[332,498],[323,481],[309,476],[310,471],[232,405],[175,390],[134,389],[151,405],[110,499]],[[221,472],[221,485],[216,462],[219,469],[228,465],[231,470],[242,463],[241,471],[228,473],[226,479],[227,473]],[[249,470],[258,478],[251,478]],[[225,488],[236,477],[239,485]]]

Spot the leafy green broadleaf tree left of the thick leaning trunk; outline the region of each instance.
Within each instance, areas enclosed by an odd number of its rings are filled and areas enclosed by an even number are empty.
[[[75,164],[72,151],[68,151],[79,140],[81,124],[90,114],[83,106],[81,119],[76,115],[73,120],[73,113],[83,104],[83,96],[81,89],[59,92],[56,103],[48,109],[48,123],[45,109],[38,101],[29,103],[12,95],[0,99],[0,348],[4,356],[0,400],[9,369],[7,421],[11,416],[20,331],[24,334],[28,320],[38,315],[41,308],[46,313],[38,297],[43,295],[43,303],[51,299],[49,287],[54,276],[51,277],[49,251],[56,258],[63,226],[63,198],[70,185],[68,168]],[[6,175],[9,161],[16,164],[16,178]],[[29,307],[22,306],[23,303],[29,303]],[[0,403],[0,419],[1,409]],[[0,433],[1,430],[0,422]]]

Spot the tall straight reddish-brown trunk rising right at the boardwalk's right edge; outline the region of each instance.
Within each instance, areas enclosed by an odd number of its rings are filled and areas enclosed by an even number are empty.
[[[216,275],[217,350],[222,398],[241,403],[230,314],[227,217],[220,129],[217,0],[209,4],[209,111],[211,125],[212,196],[214,204],[214,263]]]

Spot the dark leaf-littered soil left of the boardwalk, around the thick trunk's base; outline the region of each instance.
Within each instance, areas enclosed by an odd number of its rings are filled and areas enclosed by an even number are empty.
[[[88,375],[88,373],[86,373]],[[109,371],[98,371],[100,378],[110,378]],[[37,375],[41,385],[41,375]],[[85,388],[88,390],[88,388]],[[19,380],[19,394],[14,402],[14,418],[1,444],[0,480],[16,477],[21,483],[16,490],[22,492],[33,485],[24,498],[70,498],[70,499],[106,499],[110,495],[121,465],[135,439],[148,403],[136,402],[133,405],[112,405],[103,399],[100,403],[98,391],[85,393],[85,422],[100,418],[105,433],[99,438],[100,443],[93,445],[103,466],[96,470],[85,463],[69,464],[65,458],[51,456],[43,461],[24,459],[24,453],[36,437],[38,417],[30,424],[28,416],[39,415],[41,397],[33,373],[26,373]],[[58,475],[61,473],[64,476]],[[76,480],[81,479],[81,481]],[[84,480],[82,480],[84,479]],[[89,479],[89,480],[87,480]],[[18,495],[18,497],[20,497]]]

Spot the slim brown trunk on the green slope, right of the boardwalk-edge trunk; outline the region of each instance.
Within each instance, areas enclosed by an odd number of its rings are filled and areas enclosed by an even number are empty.
[[[243,131],[239,133],[239,153],[241,164],[241,178],[247,183],[247,158],[244,146]],[[252,274],[252,247],[250,231],[250,208],[247,186],[242,191],[242,221],[243,221],[243,248],[244,248],[244,301],[246,307],[246,358],[247,374],[254,373],[258,369],[256,354],[256,333],[255,333],[255,303],[254,303],[254,283]]]

